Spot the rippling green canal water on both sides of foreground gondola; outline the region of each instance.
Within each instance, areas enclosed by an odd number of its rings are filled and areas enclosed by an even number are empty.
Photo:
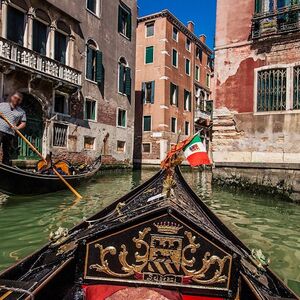
[[[35,197],[0,195],[0,269],[47,242],[59,226],[72,227],[152,175],[142,172],[103,172],[80,189],[74,202],[68,191]],[[265,195],[211,187],[209,172],[184,170],[194,191],[249,247],[262,249],[273,270],[300,295],[300,205]]]

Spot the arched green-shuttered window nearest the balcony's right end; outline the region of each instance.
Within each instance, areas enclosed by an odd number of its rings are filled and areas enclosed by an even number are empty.
[[[103,81],[102,52],[93,40],[86,45],[86,78],[97,83]]]

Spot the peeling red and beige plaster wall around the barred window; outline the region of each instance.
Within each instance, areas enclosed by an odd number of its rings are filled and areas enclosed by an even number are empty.
[[[247,4],[245,4],[247,2]],[[300,162],[300,114],[255,113],[255,69],[300,63],[300,35],[253,42],[254,1],[218,0],[215,162]]]

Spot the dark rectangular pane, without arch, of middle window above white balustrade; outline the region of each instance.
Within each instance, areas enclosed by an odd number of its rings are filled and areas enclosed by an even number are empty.
[[[32,49],[42,55],[46,55],[48,27],[46,24],[33,20],[32,25]]]

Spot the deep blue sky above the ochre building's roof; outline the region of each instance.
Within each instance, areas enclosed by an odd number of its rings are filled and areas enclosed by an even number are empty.
[[[139,15],[168,9],[182,23],[195,23],[196,35],[205,34],[210,48],[214,46],[216,0],[138,0]]]

